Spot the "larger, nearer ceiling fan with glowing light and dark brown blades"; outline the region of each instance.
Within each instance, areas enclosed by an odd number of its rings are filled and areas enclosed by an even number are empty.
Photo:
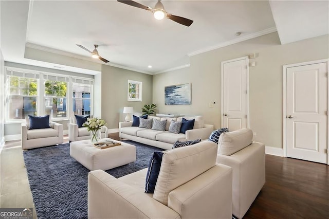
[[[167,13],[167,11],[165,10],[165,8],[163,7],[163,5],[161,3],[161,0],[158,0],[158,2],[155,4],[154,8],[139,4],[139,3],[131,1],[131,0],[118,0],[118,2],[151,11],[153,13],[155,19],[157,19],[157,20],[162,20],[166,16],[168,19],[170,19],[174,22],[177,22],[179,24],[188,26],[188,27],[193,23],[192,20],[186,19],[185,17],[180,17],[180,16],[176,16],[176,15]]]

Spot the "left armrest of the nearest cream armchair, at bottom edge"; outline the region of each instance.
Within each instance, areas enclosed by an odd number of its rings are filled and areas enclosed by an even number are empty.
[[[102,170],[88,173],[88,218],[180,218],[157,202]]]

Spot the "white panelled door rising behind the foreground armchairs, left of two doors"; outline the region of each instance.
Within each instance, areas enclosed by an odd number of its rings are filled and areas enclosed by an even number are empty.
[[[222,126],[230,132],[247,127],[248,58],[222,62]]]

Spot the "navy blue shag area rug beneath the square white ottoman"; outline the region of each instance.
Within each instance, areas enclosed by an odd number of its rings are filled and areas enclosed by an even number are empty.
[[[136,162],[106,172],[118,178],[148,167],[154,151],[162,149],[130,140]],[[105,149],[104,149],[105,150]],[[69,155],[69,143],[23,152],[36,215],[41,218],[87,218],[87,174]]]

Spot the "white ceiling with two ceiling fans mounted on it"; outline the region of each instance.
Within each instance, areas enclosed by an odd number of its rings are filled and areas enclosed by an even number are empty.
[[[186,27],[157,21],[151,12],[117,1],[1,0],[1,49],[6,61],[96,74],[105,63],[76,44],[89,50],[99,44],[107,65],[157,74],[188,66],[194,54],[276,30],[282,44],[328,33],[328,1],[162,4],[167,12],[194,23]]]

